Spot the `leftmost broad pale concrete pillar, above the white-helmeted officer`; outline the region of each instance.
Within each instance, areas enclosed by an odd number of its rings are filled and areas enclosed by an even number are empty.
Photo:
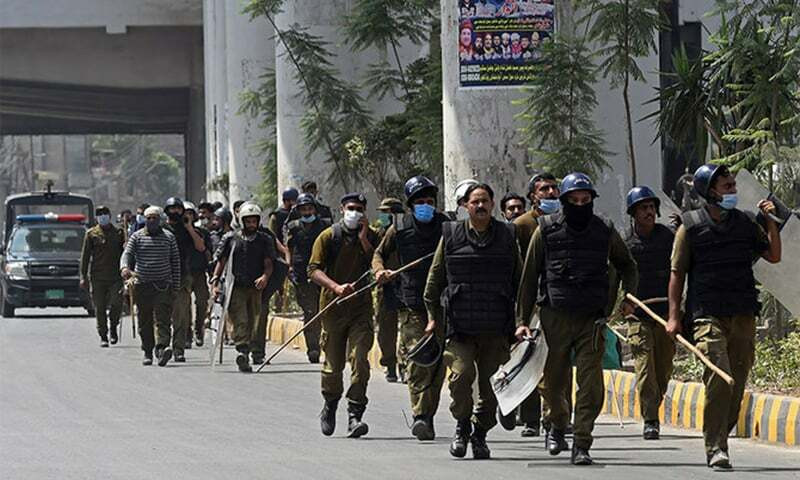
[[[266,69],[275,67],[274,32],[266,19],[250,21],[241,13],[240,2],[225,2],[225,50],[227,73],[227,138],[225,148],[230,176],[230,199],[247,200],[261,182],[264,155],[255,144],[271,132],[259,128],[258,121],[239,114],[239,95],[256,89]]]

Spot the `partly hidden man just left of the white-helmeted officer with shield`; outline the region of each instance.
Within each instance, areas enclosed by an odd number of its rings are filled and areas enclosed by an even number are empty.
[[[209,207],[210,205],[206,205]],[[190,249],[189,253],[189,281],[190,295],[194,294],[194,341],[198,347],[203,346],[205,336],[206,311],[208,309],[208,262],[213,255],[211,245],[211,234],[204,227],[195,226],[198,220],[198,212],[192,202],[183,202],[183,216],[187,220],[188,228],[194,228],[198,235],[203,239],[205,249],[200,252],[197,249]],[[191,226],[191,227],[189,227]],[[191,330],[187,333],[186,348],[192,348]]]

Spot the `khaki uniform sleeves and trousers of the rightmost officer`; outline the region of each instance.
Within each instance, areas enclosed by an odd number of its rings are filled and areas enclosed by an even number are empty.
[[[758,241],[768,245],[766,232],[759,226]],[[675,233],[672,249],[672,271],[683,277],[691,269],[691,245],[686,228]],[[705,406],[703,407],[703,439],[706,454],[728,451],[728,435],[739,419],[747,377],[755,361],[755,315],[696,318],[692,332],[697,348],[719,368],[733,377],[728,385],[709,368],[703,372]]]

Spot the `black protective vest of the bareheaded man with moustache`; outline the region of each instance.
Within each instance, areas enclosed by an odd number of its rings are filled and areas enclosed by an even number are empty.
[[[511,334],[514,330],[514,225],[492,219],[489,237],[478,244],[467,222],[445,222],[447,288],[442,306],[448,335]]]

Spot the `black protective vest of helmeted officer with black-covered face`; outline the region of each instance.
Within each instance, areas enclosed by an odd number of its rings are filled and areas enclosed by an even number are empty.
[[[608,247],[611,226],[597,215],[582,232],[563,214],[539,218],[545,242],[541,292],[545,304],[570,312],[603,314],[608,303]]]

